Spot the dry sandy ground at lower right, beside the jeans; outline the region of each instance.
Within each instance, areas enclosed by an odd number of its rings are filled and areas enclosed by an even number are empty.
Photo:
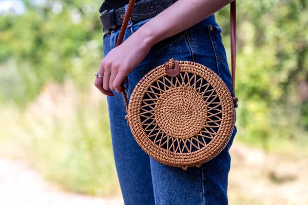
[[[230,154],[230,204],[308,204],[307,158],[266,154],[238,143]]]

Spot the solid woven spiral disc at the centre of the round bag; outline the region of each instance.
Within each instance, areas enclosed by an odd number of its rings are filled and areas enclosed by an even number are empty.
[[[207,106],[197,90],[188,86],[172,87],[156,97],[155,110],[147,107],[151,110],[147,118],[155,116],[158,127],[168,135],[167,140],[169,136],[186,139],[202,130],[206,123]]]

